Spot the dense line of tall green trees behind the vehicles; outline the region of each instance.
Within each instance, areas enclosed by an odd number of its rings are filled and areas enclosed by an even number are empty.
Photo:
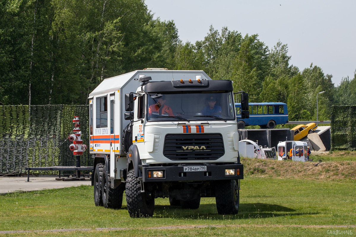
[[[250,102],[284,102],[289,120],[330,119],[356,104],[356,72],[334,86],[313,64],[290,65],[287,44],[210,27],[181,42],[173,21],[153,19],[143,0],[0,0],[0,104],[87,104],[103,79],[149,67],[204,70],[234,81]]]

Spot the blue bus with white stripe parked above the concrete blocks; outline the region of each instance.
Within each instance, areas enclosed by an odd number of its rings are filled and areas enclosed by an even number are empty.
[[[260,128],[274,128],[276,124],[288,122],[287,104],[281,102],[248,103],[250,118],[241,119],[241,104],[235,103],[237,127],[259,125]]]

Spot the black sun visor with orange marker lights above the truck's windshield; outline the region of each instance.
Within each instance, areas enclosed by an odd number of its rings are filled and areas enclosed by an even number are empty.
[[[230,80],[202,80],[198,81],[152,81],[145,85],[146,93],[162,92],[162,91],[192,91],[192,90],[220,90],[232,91],[232,83]]]

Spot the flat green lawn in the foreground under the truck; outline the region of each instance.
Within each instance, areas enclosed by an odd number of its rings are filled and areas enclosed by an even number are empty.
[[[214,198],[202,198],[197,210],[156,199],[153,218],[135,219],[129,217],[125,198],[118,210],[96,207],[91,186],[6,194],[0,196],[0,231],[92,231],[0,236],[333,236],[328,230],[356,235],[355,184],[246,177],[241,181],[238,215],[218,215]],[[95,230],[103,227],[126,229]]]

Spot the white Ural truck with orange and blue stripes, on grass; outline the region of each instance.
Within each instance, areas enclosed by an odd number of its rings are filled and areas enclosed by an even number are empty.
[[[158,197],[189,209],[215,197],[219,214],[237,214],[244,170],[233,96],[230,80],[203,71],[103,80],[89,95],[95,205],[119,208],[126,190],[131,217],[152,216]],[[241,99],[246,109],[247,94]],[[217,112],[206,115],[208,100]]]

